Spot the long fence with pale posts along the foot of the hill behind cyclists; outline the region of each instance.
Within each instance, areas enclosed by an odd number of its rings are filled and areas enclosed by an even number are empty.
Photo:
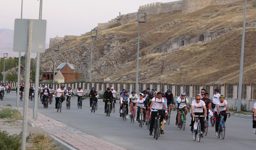
[[[24,83],[24,82],[21,82]],[[17,82],[10,82],[7,83],[10,84],[10,86],[13,88],[17,86]],[[42,87],[42,85],[50,86],[50,84],[47,83],[39,83],[39,86]],[[62,83],[63,84],[63,83]],[[60,88],[60,85],[62,84],[53,84],[53,88],[57,89]],[[30,86],[33,86],[34,83],[30,82]],[[136,83],[126,83],[126,82],[72,82],[72,83],[65,83],[66,88],[68,86],[71,86],[72,89],[78,89],[78,87],[81,87],[84,90],[90,90],[92,87],[94,87],[98,91],[105,91],[106,88],[114,87],[116,92],[122,91],[122,89],[128,90],[128,92],[131,92],[132,90],[136,89]],[[206,92],[210,94],[210,96],[213,96],[214,89],[218,88],[220,90],[220,94],[223,94],[226,96],[226,98],[233,98],[234,92],[235,96],[238,95],[238,84],[168,84],[168,83],[138,83],[138,92],[141,92],[145,90],[147,87],[153,88],[154,90],[158,92],[166,92],[167,88],[170,88],[172,90],[172,93],[174,96],[179,96],[180,93],[186,92],[187,97],[195,97],[197,94],[200,94],[201,89],[206,89]],[[190,89],[191,87],[191,89]],[[247,91],[249,90],[249,91]],[[256,84],[242,84],[242,99],[246,99],[246,95],[249,93],[248,99],[250,100],[256,100]]]

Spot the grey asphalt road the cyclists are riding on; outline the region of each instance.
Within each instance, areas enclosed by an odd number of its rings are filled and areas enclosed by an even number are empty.
[[[16,93],[6,95],[1,105],[11,104],[16,106]],[[190,117],[187,115],[185,130],[175,126],[176,112],[172,112],[170,125],[164,126],[165,134],[158,140],[149,136],[149,130],[144,125],[139,127],[138,122],[132,124],[129,120],[119,117],[119,107],[110,117],[104,114],[104,103],[99,100],[98,110],[90,112],[89,100],[83,101],[82,109],[77,108],[77,98],[71,99],[70,110],[66,109],[63,102],[62,112],[55,111],[55,100],[48,109],[38,102],[38,112],[54,118],[68,126],[72,126],[82,132],[96,136],[102,140],[116,144],[128,150],[138,149],[192,149],[192,150],[255,150],[256,135],[252,133],[252,119],[230,117],[226,121],[226,135],[224,140],[215,136],[215,127],[208,128],[208,135],[201,139],[200,143],[193,140],[190,132]],[[29,109],[33,109],[34,101],[28,102]],[[20,101],[20,107],[24,107],[24,101]]]

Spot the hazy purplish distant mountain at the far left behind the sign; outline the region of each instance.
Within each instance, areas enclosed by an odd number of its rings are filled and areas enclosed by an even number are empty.
[[[4,56],[4,53],[8,53],[8,57],[18,57],[18,52],[13,52],[13,36],[14,30],[0,29],[0,57]],[[49,48],[49,44],[45,44],[45,48]],[[36,53],[31,54],[32,58],[36,57]]]

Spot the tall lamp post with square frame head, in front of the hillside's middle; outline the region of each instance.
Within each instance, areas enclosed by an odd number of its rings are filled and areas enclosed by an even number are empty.
[[[140,18],[140,16],[142,17]],[[138,76],[139,76],[140,22],[146,22],[146,12],[138,12],[138,22],[139,22],[139,31],[138,31],[137,71],[136,71],[136,88],[135,88],[137,93],[138,93]]]

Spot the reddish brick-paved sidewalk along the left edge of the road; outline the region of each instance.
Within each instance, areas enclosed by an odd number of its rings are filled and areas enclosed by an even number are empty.
[[[16,107],[15,107],[16,108]],[[23,112],[23,108],[16,108]],[[23,114],[23,113],[22,113]],[[34,127],[41,127],[52,136],[62,140],[73,147],[74,150],[125,150],[119,146],[96,138],[95,136],[82,133],[70,126],[54,120],[38,112],[38,119],[33,119],[33,110],[28,109],[28,121]],[[65,149],[65,148],[64,148]],[[70,148],[66,148],[70,149]]]

